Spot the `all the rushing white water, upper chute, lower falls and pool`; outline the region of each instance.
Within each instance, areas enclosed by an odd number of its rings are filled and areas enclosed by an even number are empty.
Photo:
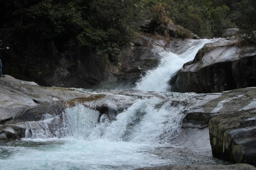
[[[159,68],[137,83],[137,89],[166,91],[171,74],[209,41],[198,41],[180,56],[164,57]],[[157,84],[164,78],[165,83]],[[42,121],[26,122],[26,138],[0,142],[0,169],[128,170],[220,163],[212,158],[209,140],[205,139],[208,143],[204,142],[201,151],[190,146],[195,144],[186,141],[188,135],[181,129],[185,105],[171,102],[157,97],[138,99],[114,120],[106,115],[99,118],[98,111],[81,104],[57,116],[46,114]]]

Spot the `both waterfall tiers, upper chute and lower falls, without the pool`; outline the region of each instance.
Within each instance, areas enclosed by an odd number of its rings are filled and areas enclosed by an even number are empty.
[[[158,68],[150,70],[136,83],[135,89],[167,91],[170,88],[168,81],[172,75],[184,63],[191,61],[205,43],[213,41],[216,39],[190,40],[189,48],[181,55],[169,52],[162,57]],[[99,118],[98,111],[79,104],[65,109],[62,114],[54,117],[46,114],[42,121],[27,122],[26,137],[73,137],[85,140],[101,138],[137,143],[164,143],[166,138],[171,139],[178,134],[184,118],[182,114],[184,106],[179,104],[171,107],[171,100],[165,101],[164,104],[161,102],[157,97],[139,100],[119,113],[114,121],[108,120],[106,115],[101,115]],[[110,101],[108,105],[114,103]]]

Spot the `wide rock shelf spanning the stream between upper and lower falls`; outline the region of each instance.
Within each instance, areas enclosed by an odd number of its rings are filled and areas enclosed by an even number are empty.
[[[256,87],[208,94],[142,90],[91,91],[43,87],[9,75],[1,78],[0,86],[1,140],[19,140],[26,135],[26,122],[43,120],[46,113],[60,114],[65,108],[79,103],[97,110],[100,116],[108,115],[114,120],[116,115],[138,100],[158,98],[159,107],[166,101],[171,101],[170,106],[182,106],[185,115],[183,129],[209,129],[214,157],[230,163],[255,166]],[[194,138],[192,142],[198,145],[197,139]]]

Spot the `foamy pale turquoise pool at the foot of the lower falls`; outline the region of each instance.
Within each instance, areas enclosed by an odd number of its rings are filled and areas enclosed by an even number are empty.
[[[35,142],[26,140],[26,147],[0,147],[0,169],[131,169],[138,165],[166,164],[147,153],[149,146],[109,140],[75,140],[71,138]],[[4,153],[8,150],[9,153]],[[10,153],[11,150],[15,152]],[[1,154],[1,155],[2,155]],[[10,154],[10,155],[7,155]]]

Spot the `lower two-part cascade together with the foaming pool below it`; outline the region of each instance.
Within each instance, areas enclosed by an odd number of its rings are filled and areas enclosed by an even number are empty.
[[[27,122],[28,136],[22,141],[28,147],[6,155],[1,167],[128,170],[168,165],[170,160],[153,153],[155,147],[172,146],[167,139],[181,129],[184,106],[180,103],[172,107],[171,102],[162,103],[155,97],[141,99],[119,113],[116,120],[103,115],[99,123],[98,111],[81,104],[66,108],[59,116],[46,115],[43,121]],[[0,150],[13,148],[7,145]],[[174,164],[177,160],[172,161]]]

